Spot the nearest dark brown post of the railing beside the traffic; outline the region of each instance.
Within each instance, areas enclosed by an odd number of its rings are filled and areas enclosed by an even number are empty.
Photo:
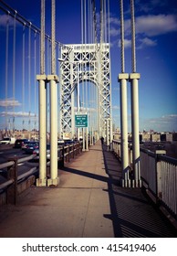
[[[14,165],[8,169],[7,178],[13,179],[14,182],[7,188],[6,192],[6,202],[7,204],[16,205],[17,199],[17,161],[18,157],[14,156],[8,159],[9,161],[13,161]]]

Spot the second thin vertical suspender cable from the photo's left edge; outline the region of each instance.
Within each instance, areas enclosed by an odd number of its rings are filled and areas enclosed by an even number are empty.
[[[15,93],[16,93],[16,11],[14,16],[13,36],[13,133],[15,133]]]

